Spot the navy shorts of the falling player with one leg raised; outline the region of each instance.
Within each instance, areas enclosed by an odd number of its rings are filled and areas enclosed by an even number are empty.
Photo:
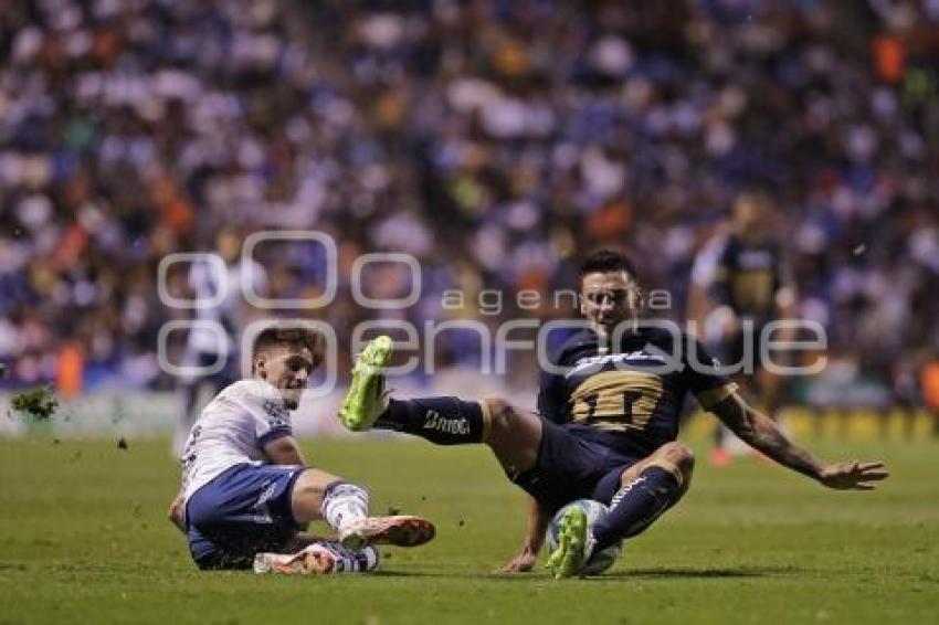
[[[642,459],[574,436],[550,421],[542,419],[541,424],[535,466],[508,476],[551,512],[576,499],[609,504],[620,489],[620,475]]]

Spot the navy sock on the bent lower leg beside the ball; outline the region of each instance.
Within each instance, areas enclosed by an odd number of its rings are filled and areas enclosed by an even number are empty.
[[[640,533],[680,495],[682,485],[675,474],[660,466],[645,468],[616,491],[610,511],[593,523],[594,550]]]

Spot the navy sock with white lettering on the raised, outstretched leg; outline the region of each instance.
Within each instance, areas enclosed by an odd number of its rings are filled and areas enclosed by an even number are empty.
[[[374,427],[426,438],[437,445],[482,443],[488,417],[478,402],[456,398],[390,400]]]

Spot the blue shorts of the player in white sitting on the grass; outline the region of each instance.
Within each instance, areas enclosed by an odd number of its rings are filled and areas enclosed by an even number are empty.
[[[189,551],[200,569],[247,569],[254,554],[279,551],[300,530],[291,510],[306,467],[235,465],[186,504]]]

